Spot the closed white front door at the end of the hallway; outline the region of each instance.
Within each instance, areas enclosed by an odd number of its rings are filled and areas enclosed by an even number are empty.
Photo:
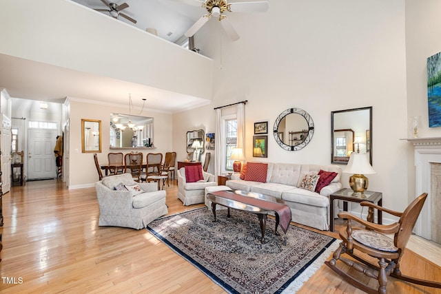
[[[54,147],[55,129],[28,130],[28,179],[56,178]]]

